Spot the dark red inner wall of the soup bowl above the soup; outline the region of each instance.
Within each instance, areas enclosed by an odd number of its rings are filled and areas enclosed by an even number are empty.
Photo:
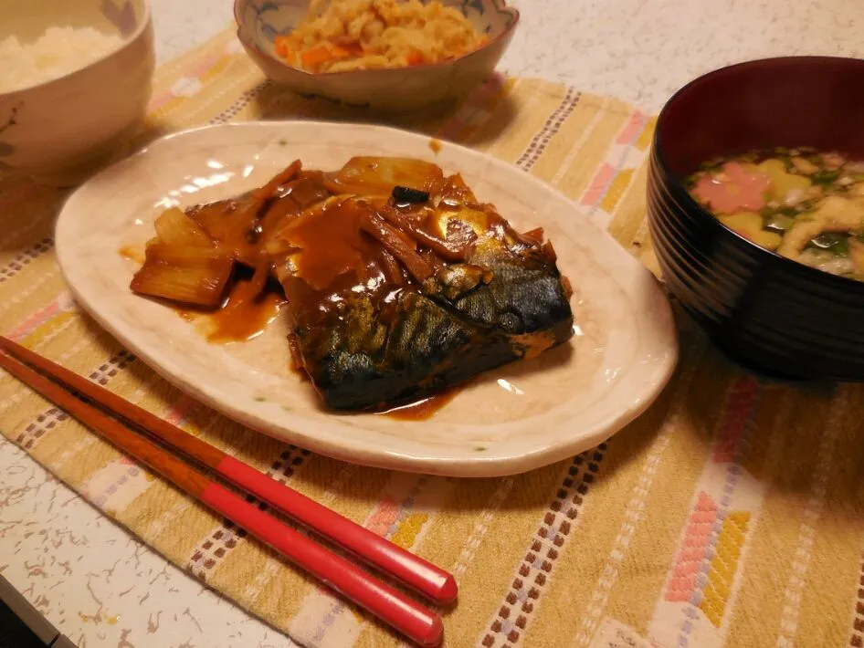
[[[698,78],[658,121],[659,154],[679,176],[701,162],[774,146],[864,159],[864,60],[766,58]]]

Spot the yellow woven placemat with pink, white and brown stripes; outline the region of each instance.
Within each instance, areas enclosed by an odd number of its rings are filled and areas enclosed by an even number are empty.
[[[265,83],[226,32],[159,70],[138,144],[296,116],[351,119]],[[396,122],[552,183],[656,269],[644,225],[653,124],[530,78],[493,78],[447,114]],[[759,381],[682,319],[669,388],[590,452],[470,482],[346,465],[197,405],[83,315],[52,247],[65,195],[0,177],[2,332],[451,570],[448,646],[862,645],[861,388]],[[5,374],[0,421],[106,515],[298,643],[400,644]]]

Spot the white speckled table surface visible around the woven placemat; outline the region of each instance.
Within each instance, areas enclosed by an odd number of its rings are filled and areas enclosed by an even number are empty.
[[[160,62],[231,21],[227,0],[151,0]],[[856,0],[512,0],[501,68],[656,111],[690,78],[755,57],[864,56]],[[0,436],[0,573],[83,647],[293,643],[147,549]]]

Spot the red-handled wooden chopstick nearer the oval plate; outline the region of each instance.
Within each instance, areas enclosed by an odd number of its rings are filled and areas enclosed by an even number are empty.
[[[0,336],[0,349],[64,382],[68,387],[87,396],[105,409],[118,413],[124,419],[139,425],[145,432],[153,434],[165,444],[195,459],[261,501],[267,502],[271,507],[293,517],[344,549],[348,549],[370,565],[401,580],[429,600],[442,605],[456,601],[458,593],[456,580],[428,560],[402,549],[292,488],[279,484],[275,479],[226,455],[192,434],[186,434],[155,414],[123,400],[120,396],[12,340]]]

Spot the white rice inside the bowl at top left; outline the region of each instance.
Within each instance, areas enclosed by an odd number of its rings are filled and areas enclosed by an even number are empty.
[[[93,27],[48,27],[33,43],[0,40],[0,92],[29,88],[87,67],[123,39]]]

